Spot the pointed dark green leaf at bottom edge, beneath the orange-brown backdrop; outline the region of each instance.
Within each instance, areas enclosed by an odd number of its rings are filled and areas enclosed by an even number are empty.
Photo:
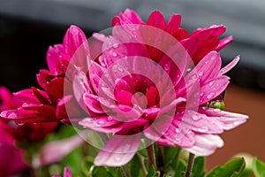
[[[223,166],[216,166],[207,177],[237,177],[244,171],[245,166],[244,158],[234,158]]]

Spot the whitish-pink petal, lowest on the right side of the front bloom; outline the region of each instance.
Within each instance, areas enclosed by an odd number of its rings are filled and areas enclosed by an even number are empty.
[[[209,156],[217,148],[223,147],[223,140],[218,135],[195,135],[195,143],[190,148],[185,148],[197,156]]]

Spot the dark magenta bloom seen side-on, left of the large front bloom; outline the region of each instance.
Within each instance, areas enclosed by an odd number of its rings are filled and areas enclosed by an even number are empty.
[[[86,45],[87,38],[79,27],[70,27],[65,36],[64,43],[49,47],[47,63],[49,70],[42,69],[37,74],[37,81],[41,89],[24,89],[14,94],[16,110],[1,113],[4,119],[15,120],[19,123],[39,123],[67,121],[64,104],[73,104],[72,114],[79,117],[77,103],[72,99],[71,89],[64,93],[64,87],[72,88],[71,73],[65,75],[69,61],[72,59],[75,65],[85,67],[89,49]],[[81,47],[80,47],[81,46]],[[78,50],[79,49],[79,50]]]

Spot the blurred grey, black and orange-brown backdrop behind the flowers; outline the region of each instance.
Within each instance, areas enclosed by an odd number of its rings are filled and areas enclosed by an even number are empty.
[[[0,0],[0,85],[11,91],[37,86],[35,74],[47,68],[49,45],[63,42],[74,24],[87,37],[111,26],[111,19],[131,8],[142,19],[159,10],[166,19],[182,14],[182,27],[223,24],[224,36],[233,35],[222,51],[223,64],[241,60],[229,73],[226,110],[246,113],[247,123],[224,133],[225,145],[208,158],[208,168],[221,165],[239,152],[265,160],[265,1],[263,0]]]

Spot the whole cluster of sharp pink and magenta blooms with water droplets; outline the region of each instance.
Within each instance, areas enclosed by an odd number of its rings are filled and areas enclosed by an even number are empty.
[[[217,51],[232,41],[231,36],[220,40],[225,27],[189,35],[180,22],[178,14],[166,23],[161,12],[153,12],[145,23],[127,9],[112,20],[112,35],[94,35],[98,55],[90,54],[94,44],[79,27],[70,27],[64,43],[48,50],[49,70],[37,74],[42,89],[15,93],[16,109],[0,116],[38,123],[45,134],[58,122],[72,122],[112,135],[95,165],[125,165],[142,138],[212,154],[223,146],[219,134],[247,119],[207,107],[227,88],[230,78],[223,74],[239,57],[221,69]]]

